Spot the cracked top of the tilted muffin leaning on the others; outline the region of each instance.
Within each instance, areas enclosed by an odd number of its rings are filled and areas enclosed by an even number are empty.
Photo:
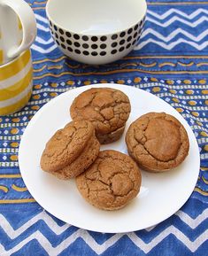
[[[57,171],[77,159],[94,136],[95,128],[87,120],[74,120],[59,129],[42,152],[43,170]]]

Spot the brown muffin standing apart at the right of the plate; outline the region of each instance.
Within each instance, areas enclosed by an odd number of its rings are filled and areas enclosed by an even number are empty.
[[[127,130],[127,151],[144,170],[177,167],[189,153],[189,137],[181,122],[165,112],[150,112]]]

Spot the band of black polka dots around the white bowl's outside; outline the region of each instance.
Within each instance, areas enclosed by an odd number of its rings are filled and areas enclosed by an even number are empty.
[[[65,54],[70,57],[76,55],[92,58],[104,56],[120,56],[132,50],[143,32],[144,19],[135,26],[113,35],[78,35],[63,28],[59,28],[50,21],[50,31]],[[124,54],[125,55],[125,54]]]

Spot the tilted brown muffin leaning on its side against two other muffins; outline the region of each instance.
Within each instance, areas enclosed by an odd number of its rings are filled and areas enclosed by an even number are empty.
[[[96,159],[100,144],[88,120],[75,120],[59,129],[42,152],[42,170],[59,179],[80,175]]]

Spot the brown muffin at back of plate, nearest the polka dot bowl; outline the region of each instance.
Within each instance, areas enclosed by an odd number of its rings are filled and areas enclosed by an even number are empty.
[[[92,88],[82,92],[70,107],[74,119],[90,120],[101,144],[110,144],[122,136],[131,105],[119,89]]]

